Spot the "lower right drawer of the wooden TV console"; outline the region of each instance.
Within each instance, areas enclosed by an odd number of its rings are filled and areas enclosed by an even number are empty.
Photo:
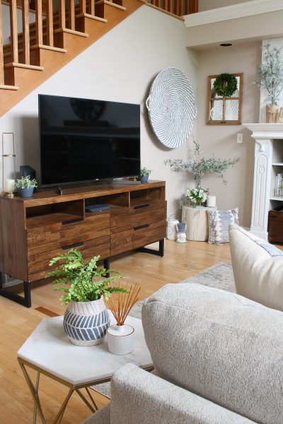
[[[110,235],[110,256],[149,245],[166,237],[166,220],[138,225]]]

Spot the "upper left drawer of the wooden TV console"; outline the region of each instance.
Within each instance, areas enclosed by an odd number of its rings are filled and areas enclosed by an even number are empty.
[[[28,254],[39,254],[110,234],[110,214],[91,216],[76,223],[56,223],[27,230]]]

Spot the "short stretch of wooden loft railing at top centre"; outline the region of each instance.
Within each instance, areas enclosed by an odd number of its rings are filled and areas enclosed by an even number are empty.
[[[141,0],[175,16],[197,13],[198,0]]]

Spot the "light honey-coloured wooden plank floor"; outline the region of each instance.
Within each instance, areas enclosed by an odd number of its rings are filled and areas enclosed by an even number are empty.
[[[157,247],[157,245],[155,246]],[[167,283],[179,281],[208,268],[219,261],[230,262],[229,245],[214,246],[207,242],[187,242],[178,245],[166,240],[163,258],[141,253],[123,254],[112,259],[110,267],[124,276],[125,282],[141,285],[140,298],[146,298]],[[35,308],[42,307],[64,314],[59,294],[52,291],[48,281],[33,283],[30,309],[0,297],[0,423],[33,423],[33,401],[16,359],[18,348],[46,315]],[[66,358],[68,360],[68,358]],[[47,423],[52,422],[61,406],[67,388],[47,377],[42,377],[41,399]],[[108,399],[95,397],[98,407]],[[69,401],[62,424],[76,424],[90,415],[79,396]],[[37,418],[40,423],[40,418]]]

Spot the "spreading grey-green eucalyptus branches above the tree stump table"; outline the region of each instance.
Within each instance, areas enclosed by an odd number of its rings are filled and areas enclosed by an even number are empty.
[[[235,167],[236,163],[240,158],[233,159],[216,159],[214,156],[209,159],[202,157],[202,151],[200,150],[200,143],[197,143],[196,140],[193,140],[195,144],[195,159],[184,162],[183,159],[168,159],[165,160],[165,165],[169,165],[173,172],[180,172],[182,170],[188,170],[192,172],[192,175],[197,182],[197,187],[200,187],[202,177],[207,172],[216,172],[221,175],[223,183],[226,184],[224,179],[223,172],[226,171],[230,166]]]

